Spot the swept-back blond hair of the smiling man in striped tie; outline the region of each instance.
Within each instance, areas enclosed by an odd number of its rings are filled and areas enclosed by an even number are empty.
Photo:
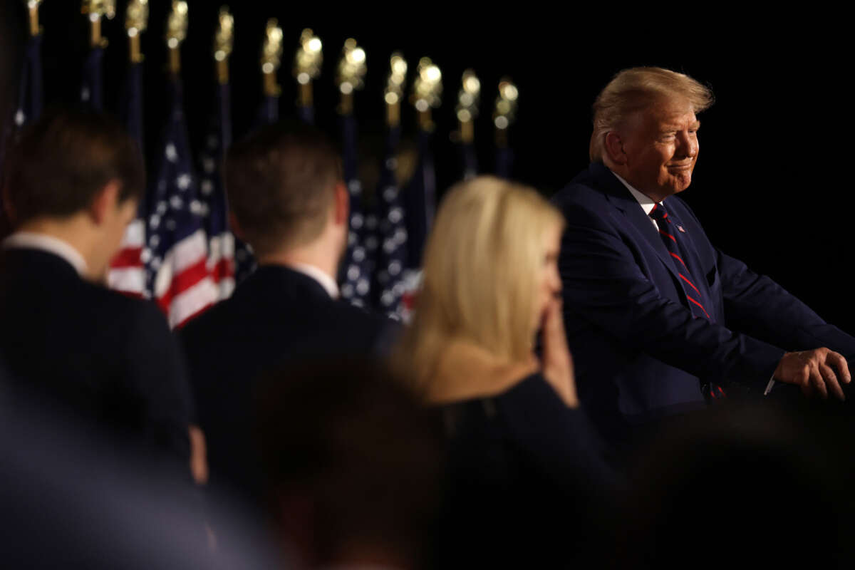
[[[591,162],[603,160],[605,135],[635,111],[661,99],[686,97],[700,113],[713,103],[712,91],[684,73],[663,68],[629,68],[618,72],[593,102]]]

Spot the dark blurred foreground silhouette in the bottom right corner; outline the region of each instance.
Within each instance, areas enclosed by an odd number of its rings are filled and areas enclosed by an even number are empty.
[[[851,422],[778,403],[669,420],[620,517],[618,568],[851,568]]]

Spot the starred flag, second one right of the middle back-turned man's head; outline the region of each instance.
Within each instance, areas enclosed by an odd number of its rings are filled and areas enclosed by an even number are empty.
[[[380,167],[377,197],[380,203],[380,249],[377,252],[377,306],[392,318],[404,315],[404,270],[407,267],[407,227],[404,220],[404,197],[395,177],[398,167],[399,126],[386,133],[386,156]]]

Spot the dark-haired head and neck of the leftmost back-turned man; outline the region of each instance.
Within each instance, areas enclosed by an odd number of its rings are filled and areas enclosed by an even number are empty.
[[[4,206],[16,231],[52,234],[103,275],[136,214],[142,155],[122,126],[87,109],[50,109],[11,149]]]

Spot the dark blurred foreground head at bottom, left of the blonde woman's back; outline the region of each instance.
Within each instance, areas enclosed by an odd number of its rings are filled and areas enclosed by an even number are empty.
[[[368,361],[270,373],[258,391],[268,511],[298,568],[433,567],[440,433]]]

